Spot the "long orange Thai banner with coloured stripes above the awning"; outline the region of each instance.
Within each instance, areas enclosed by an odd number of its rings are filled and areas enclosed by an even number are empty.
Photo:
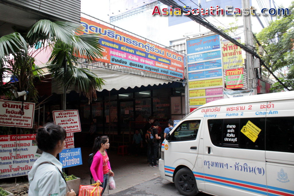
[[[104,48],[96,61],[112,63],[175,78],[184,78],[184,57],[116,29],[81,18],[83,34],[99,33]]]

